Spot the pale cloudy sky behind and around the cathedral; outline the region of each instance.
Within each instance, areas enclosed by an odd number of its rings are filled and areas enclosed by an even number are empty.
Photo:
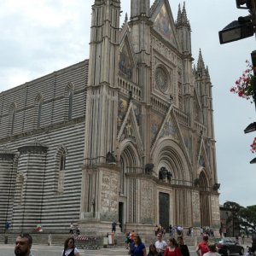
[[[152,4],[154,1],[150,1]],[[0,0],[0,91],[37,79],[89,58],[90,14],[93,0]],[[183,1],[169,0],[174,20]],[[256,121],[254,104],[230,93],[256,48],[255,37],[219,44],[218,31],[247,10],[235,0],[187,0],[192,55],[199,50],[212,81],[220,203],[256,205],[256,157],[250,144],[256,133],[244,129]],[[130,17],[130,1],[121,1]]]

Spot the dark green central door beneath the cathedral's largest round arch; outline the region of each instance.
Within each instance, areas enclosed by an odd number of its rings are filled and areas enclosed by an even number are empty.
[[[169,227],[169,216],[170,216],[170,196],[169,194],[160,192],[159,193],[159,224],[166,230]]]

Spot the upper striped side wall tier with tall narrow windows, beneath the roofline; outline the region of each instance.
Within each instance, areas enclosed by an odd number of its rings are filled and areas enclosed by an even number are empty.
[[[67,120],[73,88],[73,119],[85,114],[88,61],[80,62],[0,94],[0,139]],[[39,113],[38,102],[42,101]],[[13,116],[15,110],[15,116]],[[38,127],[38,115],[40,125]],[[11,126],[13,124],[13,132]]]

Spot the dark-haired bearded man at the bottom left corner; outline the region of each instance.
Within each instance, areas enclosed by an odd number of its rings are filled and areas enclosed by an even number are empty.
[[[20,234],[15,242],[15,255],[16,256],[32,256],[32,236],[29,234]]]

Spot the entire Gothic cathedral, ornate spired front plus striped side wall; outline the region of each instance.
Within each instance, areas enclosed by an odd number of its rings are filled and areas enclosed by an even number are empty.
[[[0,224],[219,227],[212,84],[168,0],[95,0],[90,58],[0,94]]]

